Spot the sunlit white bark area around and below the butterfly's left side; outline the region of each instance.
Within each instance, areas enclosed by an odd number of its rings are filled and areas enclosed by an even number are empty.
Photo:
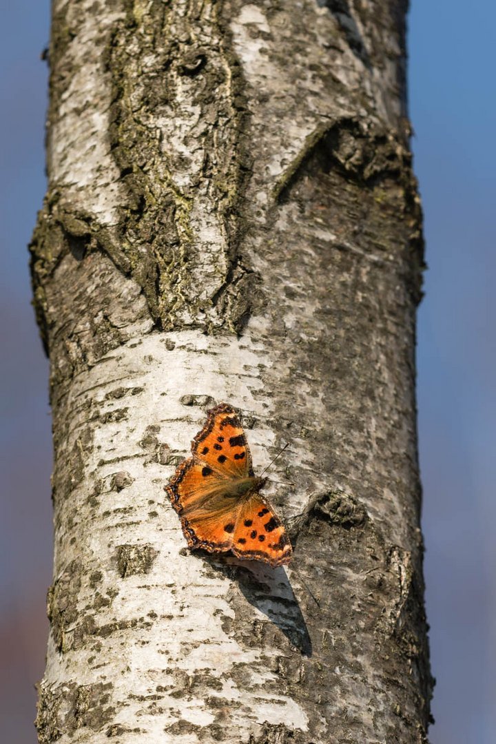
[[[241,730],[245,740],[256,734],[257,724],[266,720],[307,729],[303,708],[274,686],[280,651],[241,647],[226,632],[236,589],[228,575],[208,570],[204,559],[184,550],[180,523],[164,493],[177,458],[184,458],[204,423],[204,407],[189,405],[191,395],[202,402],[229,400],[253,417],[256,423],[248,436],[254,464],[260,471],[268,464],[276,444],[276,434],[265,423],[270,398],[254,397],[254,392],[263,392],[259,365],[271,363],[277,360],[270,359],[261,342],[210,339],[196,331],[149,333],[129,339],[71,386],[68,405],[74,418],[59,456],[70,458],[81,448],[85,465],[80,484],[59,510],[55,591],[57,583],[65,581],[65,566],[73,561],[83,563],[85,580],[74,597],[80,620],[74,626],[60,623],[58,643],[64,654],[57,652],[51,637],[42,687],[49,694],[68,677],[83,686],[112,681],[113,725],[129,729],[122,741],[141,741],[145,729],[152,741],[196,743],[196,734],[177,737],[164,731],[177,722],[178,706],[182,720],[195,726],[213,723],[215,716],[204,705],[210,696],[231,711],[225,733],[232,741]],[[92,429],[91,442],[88,418],[105,422]],[[310,466],[304,440],[292,441],[286,450],[284,459],[293,458]],[[324,487],[322,482],[315,485]],[[283,515],[299,513],[306,500],[304,493],[286,498]],[[71,525],[71,539],[65,523]],[[92,524],[97,530],[88,530]],[[146,572],[139,562],[135,568],[134,554],[123,568],[122,546],[137,548],[140,557],[151,548]],[[222,557],[219,565],[225,562]],[[240,565],[233,558],[227,563]],[[292,600],[292,591],[283,568],[248,565],[257,580],[271,587],[263,610],[251,609],[253,622],[270,615],[278,597]],[[291,625],[291,615],[287,622]],[[95,637],[83,649],[78,647],[82,626]],[[106,628],[114,632],[106,636]],[[128,639],[136,628],[142,634],[138,647]],[[294,631],[301,629],[296,625]],[[242,689],[231,676],[240,664],[249,677]],[[199,673],[202,684],[188,695],[187,686]],[[181,700],[171,694],[178,691]],[[145,702],[149,700],[153,703]],[[140,732],[132,733],[137,722]],[[103,742],[107,735],[82,728],[62,736],[60,744]]]

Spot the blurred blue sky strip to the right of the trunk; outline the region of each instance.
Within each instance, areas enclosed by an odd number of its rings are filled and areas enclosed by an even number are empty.
[[[410,117],[428,272],[419,309],[434,744],[496,731],[496,6],[413,1]]]

